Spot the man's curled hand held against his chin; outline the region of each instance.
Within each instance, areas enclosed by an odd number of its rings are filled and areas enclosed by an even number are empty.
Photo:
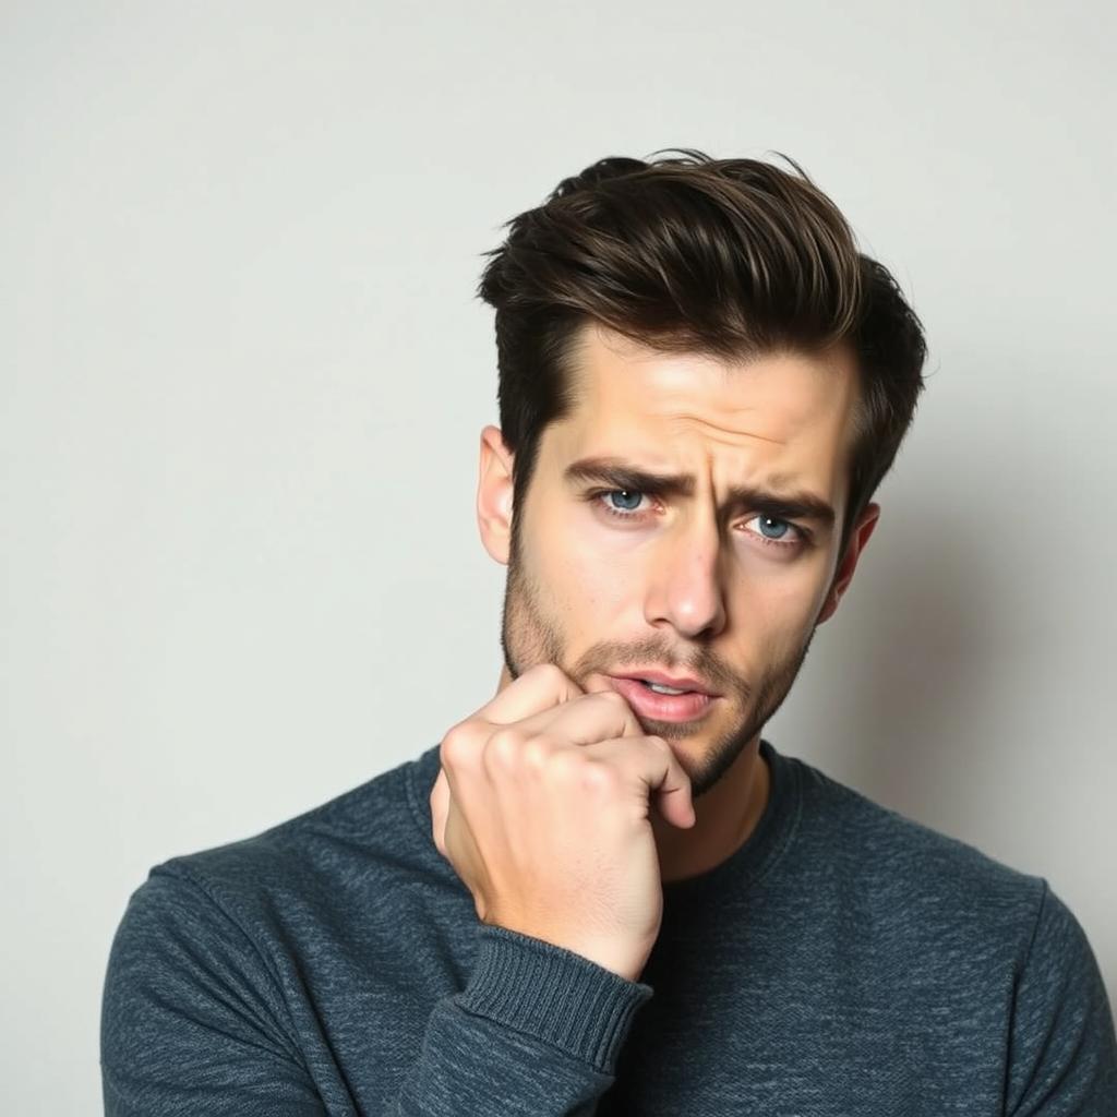
[[[663,908],[651,801],[682,829],[695,814],[670,746],[602,687],[588,694],[543,663],[454,726],[432,830],[484,923],[636,981]]]

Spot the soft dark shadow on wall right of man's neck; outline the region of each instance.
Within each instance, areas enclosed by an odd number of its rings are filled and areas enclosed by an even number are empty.
[[[982,770],[995,779],[996,750],[983,746],[996,725],[997,645],[1003,653],[1009,639],[1000,621],[1019,604],[986,535],[926,496],[918,508],[901,504],[881,502],[886,529],[815,638],[772,736],[777,747],[781,735],[802,742],[804,760],[868,798],[964,838],[989,786]]]

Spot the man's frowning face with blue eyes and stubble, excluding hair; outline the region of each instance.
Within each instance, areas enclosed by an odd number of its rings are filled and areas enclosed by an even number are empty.
[[[853,357],[731,365],[600,326],[581,341],[576,403],[544,431],[515,513],[505,663],[516,678],[553,662],[624,694],[698,796],[758,737],[837,604]],[[634,474],[676,484],[656,493]],[[833,521],[735,489],[809,495]],[[715,697],[656,694],[639,681],[652,672]]]

